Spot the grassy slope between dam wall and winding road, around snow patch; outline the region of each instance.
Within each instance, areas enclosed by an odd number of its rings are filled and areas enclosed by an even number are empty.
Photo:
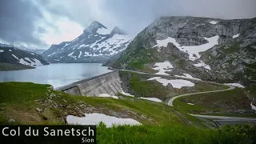
[[[145,74],[135,74],[132,72],[119,72],[120,77],[123,82],[127,82],[130,86],[130,91],[134,92],[135,97],[151,97],[151,98],[160,98],[163,101],[166,101],[175,95],[179,94],[189,94],[196,93],[201,91],[210,91],[210,90],[223,90],[227,89],[229,86],[217,85],[209,82],[199,82],[188,79],[190,82],[194,82],[195,86],[193,87],[182,87],[181,89],[173,88],[170,86],[162,86],[162,83],[157,81],[148,81],[147,79],[153,78],[154,75],[145,75]],[[162,77],[166,79],[178,79],[170,78],[168,76]]]

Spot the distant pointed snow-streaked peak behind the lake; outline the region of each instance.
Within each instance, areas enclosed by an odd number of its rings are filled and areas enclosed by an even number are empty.
[[[42,53],[49,62],[106,62],[125,50],[131,38],[117,26],[109,30],[94,21],[71,42],[50,46]]]

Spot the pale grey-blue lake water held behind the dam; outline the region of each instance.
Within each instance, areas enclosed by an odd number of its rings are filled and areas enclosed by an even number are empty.
[[[101,63],[58,63],[29,70],[0,71],[0,82],[35,82],[56,88],[110,71]]]

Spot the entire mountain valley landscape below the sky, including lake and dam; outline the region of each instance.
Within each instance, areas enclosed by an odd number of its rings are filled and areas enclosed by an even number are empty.
[[[97,125],[100,143],[254,143],[256,19],[94,21],[48,50],[0,47],[0,124]]]

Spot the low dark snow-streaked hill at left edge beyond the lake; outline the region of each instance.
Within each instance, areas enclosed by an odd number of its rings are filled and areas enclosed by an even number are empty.
[[[0,45],[0,62],[25,66],[40,66],[49,64],[49,62],[42,58],[40,54],[3,45]]]

